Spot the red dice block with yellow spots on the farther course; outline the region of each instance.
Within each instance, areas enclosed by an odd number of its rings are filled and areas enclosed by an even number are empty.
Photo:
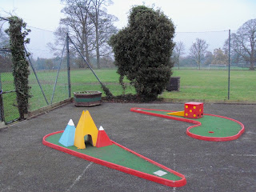
[[[184,105],[185,118],[202,118],[203,103],[202,102],[187,102]]]

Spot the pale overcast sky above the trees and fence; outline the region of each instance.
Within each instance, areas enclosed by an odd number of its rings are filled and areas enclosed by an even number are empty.
[[[237,30],[244,22],[256,18],[255,0],[112,0],[109,14],[127,24],[129,10],[134,5],[159,7],[171,18],[178,32]],[[0,0],[0,15],[12,13],[23,18],[29,26],[56,30],[61,14],[60,0]]]

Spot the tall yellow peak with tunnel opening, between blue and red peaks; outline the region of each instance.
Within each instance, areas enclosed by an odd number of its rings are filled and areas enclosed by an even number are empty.
[[[83,110],[74,134],[74,146],[78,147],[78,149],[85,149],[85,136],[87,134],[90,135],[88,138],[91,138],[91,145],[96,146],[98,129],[89,111]]]

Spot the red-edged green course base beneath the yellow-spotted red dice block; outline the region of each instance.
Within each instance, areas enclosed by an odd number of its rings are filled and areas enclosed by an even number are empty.
[[[149,114],[160,118],[169,118],[182,122],[190,122],[194,124],[194,126],[188,127],[186,134],[191,138],[206,141],[231,141],[239,138],[244,132],[244,126],[241,122],[238,122],[232,118],[226,118],[214,114],[203,114],[203,118],[192,119],[168,114],[170,112],[175,112],[172,110],[131,108],[130,111],[140,114]]]

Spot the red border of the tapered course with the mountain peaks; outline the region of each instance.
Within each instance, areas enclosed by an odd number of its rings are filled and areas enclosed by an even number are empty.
[[[58,145],[55,145],[55,144],[53,144],[51,142],[47,142],[46,141],[46,138],[50,137],[50,135],[60,134],[63,131],[64,130],[61,130],[61,131],[58,131],[58,132],[54,132],[54,133],[51,133],[51,134],[47,134],[45,137],[42,138],[42,144],[45,145],[45,146],[50,146],[51,148],[54,148],[55,150],[61,150],[62,152],[66,153],[66,154],[72,154],[72,155],[74,155],[74,156],[76,156],[78,158],[83,158],[83,159],[86,159],[87,161],[95,162],[97,164],[100,164],[102,166],[107,166],[107,167],[109,167],[111,169],[114,169],[114,170],[120,170],[120,171],[122,171],[122,172],[124,172],[126,174],[132,174],[132,175],[137,176],[139,178],[145,178],[145,179],[150,180],[152,182],[158,182],[158,183],[160,183],[162,185],[172,186],[172,187],[179,187],[179,186],[185,186],[186,185],[186,178],[185,178],[185,176],[183,174],[179,174],[178,172],[176,172],[174,170],[171,170],[170,168],[167,168],[166,166],[162,166],[158,162],[154,162],[150,158],[146,158],[146,157],[142,156],[141,154],[138,154],[138,153],[134,152],[133,150],[129,150],[128,148],[118,144],[117,142],[111,141],[111,142],[114,143],[114,145],[120,146],[122,149],[127,150],[130,153],[137,155],[139,158],[143,158],[146,161],[151,162],[155,166],[159,166],[162,169],[164,169],[166,171],[169,171],[172,174],[176,174],[178,177],[180,177],[182,179],[178,180],[178,181],[172,181],[172,180],[168,180],[166,178],[159,178],[157,176],[154,176],[154,175],[151,175],[151,174],[146,174],[146,173],[143,173],[143,172],[138,171],[138,170],[132,170],[132,169],[127,168],[125,166],[119,166],[119,165],[114,164],[112,162],[106,162],[106,161],[101,160],[99,158],[94,158],[94,157],[91,157],[91,156],[86,155],[86,154],[81,154],[81,153],[79,153],[77,151],[69,150],[69,149],[67,149],[65,147],[58,146]]]

